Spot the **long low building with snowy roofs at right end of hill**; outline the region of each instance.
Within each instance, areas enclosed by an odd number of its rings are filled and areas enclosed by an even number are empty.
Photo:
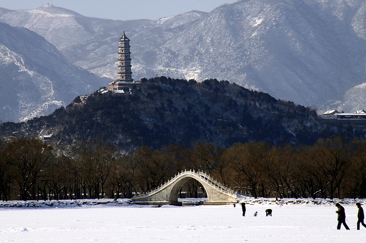
[[[327,111],[319,115],[318,120],[330,125],[352,125],[355,128],[366,128],[366,112],[364,110],[358,110],[355,113],[344,113],[337,110]]]

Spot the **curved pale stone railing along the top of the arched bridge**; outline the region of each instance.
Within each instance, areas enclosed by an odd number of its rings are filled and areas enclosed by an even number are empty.
[[[145,194],[141,194],[141,195],[136,195],[134,196],[133,198],[139,198],[139,197],[144,197],[144,196],[147,196],[147,195],[150,195],[150,194],[154,194],[160,190],[162,190],[164,187],[166,187],[167,185],[169,185],[172,181],[174,181],[176,178],[182,176],[182,175],[186,175],[186,174],[192,174],[192,175],[195,175],[195,176],[198,176],[200,177],[201,179],[203,179],[207,184],[215,187],[216,190],[222,192],[222,193],[225,193],[225,194],[229,194],[233,197],[236,197],[237,196],[237,193],[232,190],[232,189],[229,189],[227,188],[226,186],[224,186],[223,184],[221,184],[218,180],[216,179],[213,179],[210,177],[209,174],[205,173],[205,172],[202,172],[202,171],[195,171],[195,170],[182,170],[180,173],[178,173],[177,175],[175,175],[174,177],[170,178],[168,181],[166,181],[164,184],[161,184],[159,187],[155,188],[154,190],[151,190]]]

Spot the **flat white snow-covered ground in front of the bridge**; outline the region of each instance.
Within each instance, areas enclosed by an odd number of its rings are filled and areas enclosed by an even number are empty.
[[[154,207],[85,200],[47,202],[52,207],[33,202],[40,208],[26,209],[13,207],[20,202],[10,202],[12,207],[0,209],[0,242],[361,243],[366,239],[365,227],[356,230],[358,209],[352,200],[344,204],[351,230],[336,229],[336,207],[331,201],[320,205],[311,200],[246,202],[245,217],[239,205]],[[273,210],[272,217],[266,217],[267,208]]]

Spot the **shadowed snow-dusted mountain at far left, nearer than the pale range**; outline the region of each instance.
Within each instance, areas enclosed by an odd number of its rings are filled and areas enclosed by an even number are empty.
[[[37,33],[1,22],[0,74],[3,122],[52,113],[105,82],[73,66]]]

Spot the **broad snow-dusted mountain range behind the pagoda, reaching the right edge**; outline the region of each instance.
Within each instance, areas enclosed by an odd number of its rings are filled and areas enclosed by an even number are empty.
[[[320,110],[366,108],[364,0],[238,0],[154,21],[88,18],[44,6],[0,21],[44,36],[74,65],[117,77],[131,39],[133,78],[217,78]]]

